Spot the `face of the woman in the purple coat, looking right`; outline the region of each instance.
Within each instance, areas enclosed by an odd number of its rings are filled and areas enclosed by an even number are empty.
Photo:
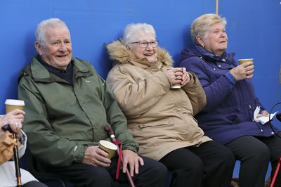
[[[209,27],[204,38],[202,38],[204,48],[211,53],[221,56],[228,47],[228,35],[226,28],[221,23],[216,23]]]

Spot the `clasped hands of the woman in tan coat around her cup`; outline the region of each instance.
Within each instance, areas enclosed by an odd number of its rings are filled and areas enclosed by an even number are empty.
[[[166,75],[169,77],[172,84],[179,83],[181,86],[184,86],[190,81],[190,76],[188,72],[186,72],[185,67],[173,67],[168,69]]]

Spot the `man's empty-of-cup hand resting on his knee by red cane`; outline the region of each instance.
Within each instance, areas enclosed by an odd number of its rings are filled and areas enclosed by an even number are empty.
[[[126,173],[127,165],[129,165],[129,172],[130,175],[133,177],[133,174],[138,174],[138,162],[143,166],[143,159],[138,156],[137,153],[133,152],[132,150],[123,150],[122,151],[123,156],[123,165],[122,165],[122,171],[123,173]]]

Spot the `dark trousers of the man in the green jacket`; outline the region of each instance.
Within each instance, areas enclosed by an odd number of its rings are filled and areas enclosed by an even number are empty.
[[[166,167],[155,160],[142,157],[144,165],[139,167],[138,174],[134,174],[133,181],[136,186],[163,187],[166,185],[168,170]],[[74,163],[69,167],[53,167],[48,172],[60,175],[67,179],[74,186],[92,186],[92,187],[111,187],[114,186],[117,168],[117,157],[113,157],[110,167],[95,167],[83,163]],[[122,170],[119,174],[119,182],[126,182],[126,176]]]

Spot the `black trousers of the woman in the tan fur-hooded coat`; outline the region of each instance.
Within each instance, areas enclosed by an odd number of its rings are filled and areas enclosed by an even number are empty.
[[[229,187],[235,157],[225,146],[208,141],[173,150],[159,162],[173,172],[174,187]]]

